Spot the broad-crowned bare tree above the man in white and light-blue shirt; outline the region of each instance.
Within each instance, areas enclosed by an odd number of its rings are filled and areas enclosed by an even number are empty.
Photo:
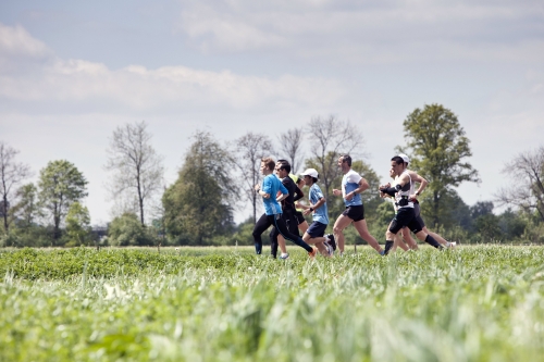
[[[334,115],[326,118],[312,117],[308,125],[310,151],[319,165],[320,178],[325,184],[325,195],[330,195],[331,182],[338,176],[336,161],[343,153],[362,155],[363,138],[359,128],[349,121],[341,121]]]

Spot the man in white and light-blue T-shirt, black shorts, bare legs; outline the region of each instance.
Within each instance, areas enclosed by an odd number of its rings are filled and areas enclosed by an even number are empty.
[[[351,223],[354,223],[361,238],[383,255],[384,250],[378,244],[376,239],[370,235],[367,221],[364,220],[364,207],[362,205],[360,194],[369,188],[369,184],[361,175],[351,170],[351,157],[349,154],[341,155],[337,164],[344,173],[344,177],[342,177],[342,190],[333,189],[333,195],[342,196],[346,204],[346,210],[336,219],[333,228],[341,255],[344,254],[343,230]]]

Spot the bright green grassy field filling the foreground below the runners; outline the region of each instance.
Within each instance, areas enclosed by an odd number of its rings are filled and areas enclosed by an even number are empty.
[[[544,360],[542,247],[290,251],[2,251],[0,361]]]

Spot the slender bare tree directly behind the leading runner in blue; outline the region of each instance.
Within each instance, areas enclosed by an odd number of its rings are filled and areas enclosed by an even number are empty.
[[[261,159],[274,153],[269,136],[251,132],[235,140],[236,168],[242,173],[244,196],[251,202],[254,223],[257,222],[257,194],[254,186],[261,179],[259,172]]]

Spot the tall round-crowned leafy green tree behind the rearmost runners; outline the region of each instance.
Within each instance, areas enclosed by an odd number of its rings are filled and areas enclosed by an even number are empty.
[[[469,139],[457,116],[441,104],[416,109],[403,123],[407,145],[397,148],[411,154],[409,167],[429,180],[432,223],[441,223],[441,199],[462,182],[479,183],[478,171],[465,159],[472,155]]]

